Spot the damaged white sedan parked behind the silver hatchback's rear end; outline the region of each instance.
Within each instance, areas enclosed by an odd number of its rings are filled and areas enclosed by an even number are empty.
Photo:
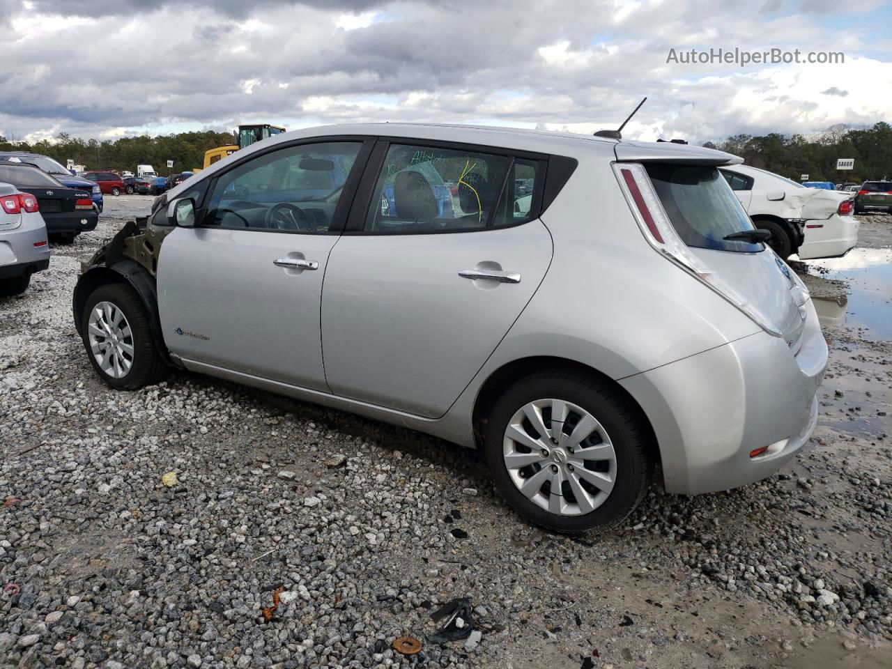
[[[772,233],[768,244],[784,260],[838,258],[855,248],[860,223],[853,194],[806,188],[748,165],[721,169],[754,225]]]

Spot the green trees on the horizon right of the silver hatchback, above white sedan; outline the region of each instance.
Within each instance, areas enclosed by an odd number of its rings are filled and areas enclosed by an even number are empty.
[[[735,135],[704,146],[739,155],[747,165],[795,181],[804,174],[809,181],[835,184],[892,178],[892,127],[885,121],[862,129],[836,125],[808,139],[780,133]],[[837,170],[838,158],[854,158],[854,169]]]

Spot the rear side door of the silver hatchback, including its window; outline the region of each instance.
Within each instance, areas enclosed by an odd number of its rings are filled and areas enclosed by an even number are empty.
[[[549,267],[545,165],[486,147],[376,147],[326,270],[333,392],[425,417],[449,409]],[[516,194],[520,180],[532,194]]]

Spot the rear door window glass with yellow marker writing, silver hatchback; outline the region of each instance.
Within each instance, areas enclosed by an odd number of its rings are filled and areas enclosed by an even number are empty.
[[[391,145],[363,230],[418,234],[506,226],[530,218],[538,161]]]

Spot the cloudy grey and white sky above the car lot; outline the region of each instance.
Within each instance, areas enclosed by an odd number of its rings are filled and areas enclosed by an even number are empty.
[[[0,0],[0,134],[365,120],[721,139],[892,121],[892,3]],[[691,49],[839,64],[681,61]]]

